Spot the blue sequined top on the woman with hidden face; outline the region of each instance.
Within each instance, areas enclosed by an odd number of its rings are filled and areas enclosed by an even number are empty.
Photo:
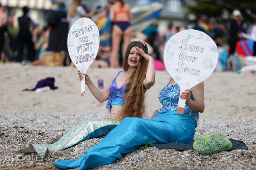
[[[163,107],[160,109],[160,111],[167,111],[167,110],[177,111],[178,101],[179,101],[179,96],[180,96],[180,92],[178,91],[179,88],[180,88],[180,86],[177,83],[172,84],[170,86],[168,86],[168,84],[167,84],[160,91],[160,93],[158,94],[158,98],[159,98],[159,101],[161,102],[161,104],[163,105]],[[190,99],[194,100],[192,94],[191,94]],[[185,105],[184,114],[192,115],[196,119],[199,118],[198,111],[192,110],[187,105]]]

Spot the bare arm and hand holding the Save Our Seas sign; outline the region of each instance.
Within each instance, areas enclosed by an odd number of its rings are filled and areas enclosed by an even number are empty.
[[[190,99],[191,93],[194,100]],[[186,98],[186,105],[194,111],[204,112],[204,82],[194,86],[192,89],[186,89],[180,94],[181,98]]]

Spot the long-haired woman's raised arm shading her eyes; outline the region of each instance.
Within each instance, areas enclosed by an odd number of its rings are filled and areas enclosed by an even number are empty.
[[[156,78],[156,70],[154,65],[154,59],[146,54],[142,49],[139,47],[135,47],[138,53],[142,55],[148,61],[148,69],[146,72],[146,78],[143,81],[143,85],[146,88],[146,90],[150,89],[155,84],[155,78]]]

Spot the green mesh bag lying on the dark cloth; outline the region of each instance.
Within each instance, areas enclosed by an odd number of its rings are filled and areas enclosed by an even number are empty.
[[[232,148],[232,143],[220,133],[198,137],[193,143],[193,149],[200,154],[213,154]]]

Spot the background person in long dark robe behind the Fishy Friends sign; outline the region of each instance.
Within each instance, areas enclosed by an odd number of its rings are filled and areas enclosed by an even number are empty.
[[[48,18],[48,25],[52,28],[49,37],[48,51],[67,51],[68,22],[65,4],[60,2],[58,9]]]

